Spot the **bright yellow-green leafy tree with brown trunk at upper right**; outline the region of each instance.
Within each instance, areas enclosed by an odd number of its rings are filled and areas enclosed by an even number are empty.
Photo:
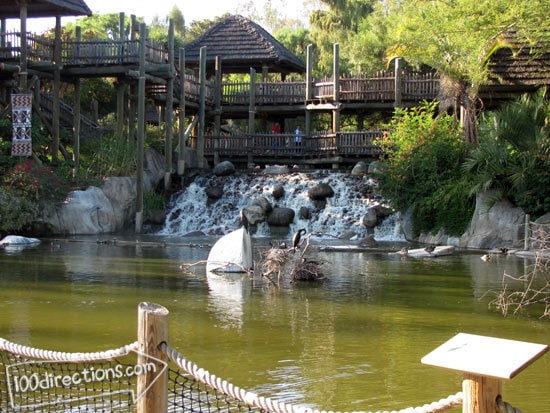
[[[429,65],[450,79],[465,139],[477,144],[476,99],[491,54],[514,47],[504,37],[512,30],[526,43],[548,41],[548,10],[549,0],[392,0],[379,3],[377,12],[391,36],[388,58]]]

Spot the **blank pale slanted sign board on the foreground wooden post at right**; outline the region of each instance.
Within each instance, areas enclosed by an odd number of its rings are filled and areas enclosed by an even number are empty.
[[[423,364],[511,379],[548,351],[544,344],[459,333],[422,358]]]

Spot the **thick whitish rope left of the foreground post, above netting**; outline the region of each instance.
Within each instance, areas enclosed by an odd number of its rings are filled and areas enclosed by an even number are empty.
[[[39,360],[48,361],[66,361],[66,362],[86,362],[86,361],[101,361],[111,360],[117,357],[128,355],[132,350],[137,350],[138,342],[135,341],[125,346],[94,353],[65,353],[62,351],[43,350],[34,347],[23,346],[21,344],[12,343],[11,341],[0,338],[0,350],[7,351],[17,356],[24,356]]]

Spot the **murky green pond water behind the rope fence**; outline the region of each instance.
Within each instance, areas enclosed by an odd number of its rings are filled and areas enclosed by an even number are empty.
[[[327,279],[276,288],[207,276],[201,262],[215,240],[81,237],[0,251],[0,337],[103,351],[133,342],[138,304],[154,302],[170,311],[169,344],[200,367],[266,397],[334,411],[403,409],[460,391],[459,373],[420,362],[459,332],[550,343],[547,320],[489,307],[504,272],[521,275],[532,264],[523,259],[402,259],[314,245]],[[269,241],[254,239],[256,253]],[[182,263],[197,265],[184,272]],[[543,411],[549,386],[545,355],[504,382],[504,399]]]

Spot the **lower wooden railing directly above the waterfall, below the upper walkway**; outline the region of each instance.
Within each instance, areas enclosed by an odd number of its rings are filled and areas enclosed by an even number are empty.
[[[357,132],[315,132],[304,135],[302,143],[295,141],[292,133],[273,134],[222,134],[205,137],[205,155],[211,156],[217,150],[220,156],[247,156],[254,158],[323,158],[333,156],[378,157],[382,152],[375,145],[376,138],[383,131]]]

